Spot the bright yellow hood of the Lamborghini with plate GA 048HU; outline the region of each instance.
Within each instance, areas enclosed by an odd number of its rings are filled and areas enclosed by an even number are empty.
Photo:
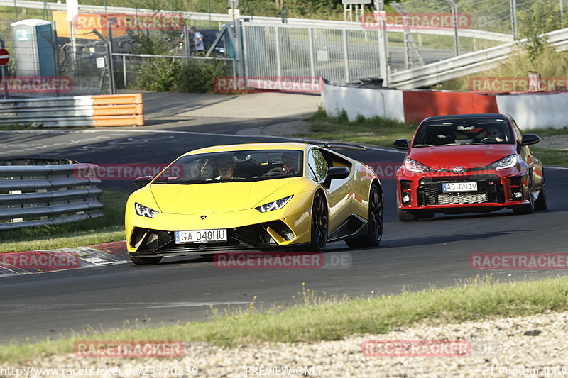
[[[278,198],[267,199],[278,189],[290,187],[301,177],[258,182],[212,182],[207,184],[150,184],[152,195],[163,213],[230,213],[251,209]],[[293,188],[290,187],[290,191]],[[293,192],[283,194],[289,196]]]

